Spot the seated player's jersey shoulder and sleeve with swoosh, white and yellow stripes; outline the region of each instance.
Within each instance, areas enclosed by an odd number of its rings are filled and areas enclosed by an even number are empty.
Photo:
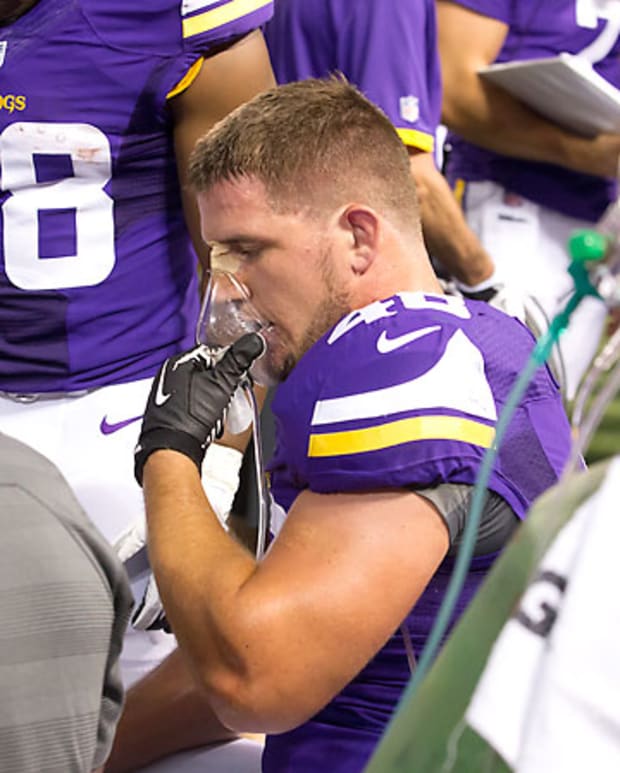
[[[278,401],[312,488],[428,483],[441,477],[429,459],[491,445],[497,409],[470,317],[461,299],[400,294],[312,347]]]

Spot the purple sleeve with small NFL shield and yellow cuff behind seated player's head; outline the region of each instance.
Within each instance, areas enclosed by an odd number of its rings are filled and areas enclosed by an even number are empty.
[[[434,3],[352,6],[339,34],[340,69],[382,108],[405,144],[431,151],[441,113]]]

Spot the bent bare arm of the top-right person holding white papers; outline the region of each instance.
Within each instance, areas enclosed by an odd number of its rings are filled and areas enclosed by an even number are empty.
[[[620,134],[572,134],[478,75],[501,50],[508,34],[504,22],[438,0],[437,24],[446,126],[496,153],[615,177]]]

